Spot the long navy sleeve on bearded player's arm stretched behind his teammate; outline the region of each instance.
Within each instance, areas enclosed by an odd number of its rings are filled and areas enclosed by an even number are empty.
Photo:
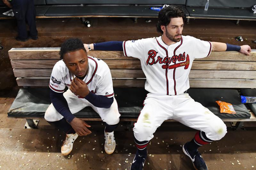
[[[123,41],[108,41],[93,44],[94,50],[123,51]]]

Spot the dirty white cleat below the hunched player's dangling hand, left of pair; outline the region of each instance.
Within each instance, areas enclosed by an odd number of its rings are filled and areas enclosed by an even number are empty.
[[[66,156],[68,155],[73,149],[73,143],[78,137],[77,133],[75,134],[66,134],[66,139],[63,141],[61,145],[61,154]]]

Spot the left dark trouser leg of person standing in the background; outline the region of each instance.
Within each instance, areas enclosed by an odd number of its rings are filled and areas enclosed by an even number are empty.
[[[25,0],[26,1],[26,0]],[[17,26],[18,26],[18,37],[21,40],[27,39],[27,29],[26,29],[26,19],[25,14],[27,10],[27,5],[24,0],[13,0],[12,6],[13,6],[13,13],[17,20]]]

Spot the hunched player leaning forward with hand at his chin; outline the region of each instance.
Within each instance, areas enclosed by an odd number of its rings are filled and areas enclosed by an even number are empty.
[[[65,87],[68,90],[64,92]],[[102,60],[87,56],[79,39],[68,39],[60,48],[60,61],[53,69],[49,87],[52,104],[44,118],[66,133],[61,146],[62,155],[68,155],[79,136],[88,135],[91,127],[73,114],[90,106],[106,123],[105,151],[114,152],[114,129],[120,114],[114,97],[113,83],[108,65]]]

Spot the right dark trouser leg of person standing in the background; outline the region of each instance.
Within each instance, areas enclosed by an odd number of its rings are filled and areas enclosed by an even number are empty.
[[[37,36],[36,30],[36,9],[34,5],[34,0],[27,0],[27,11],[26,11],[26,20],[29,26],[29,34],[32,38]]]

